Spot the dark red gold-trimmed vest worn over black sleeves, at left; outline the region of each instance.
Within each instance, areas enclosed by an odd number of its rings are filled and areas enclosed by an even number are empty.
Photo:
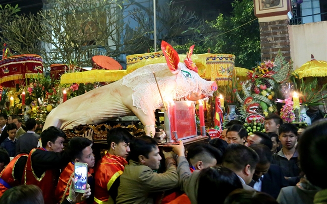
[[[56,186],[58,184],[57,169],[46,170],[40,178],[38,178],[32,167],[32,155],[37,150],[46,151],[43,148],[34,148],[28,155],[26,162],[26,167],[24,170],[23,181],[25,185],[33,184],[41,188],[43,192],[44,203],[46,204],[56,204]]]

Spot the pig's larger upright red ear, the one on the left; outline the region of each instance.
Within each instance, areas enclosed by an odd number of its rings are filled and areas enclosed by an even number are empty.
[[[174,48],[165,41],[161,41],[161,50],[165,55],[169,70],[174,73],[178,69],[179,56]]]

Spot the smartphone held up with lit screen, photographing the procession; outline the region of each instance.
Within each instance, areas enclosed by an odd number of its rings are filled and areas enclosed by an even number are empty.
[[[75,192],[85,192],[87,186],[87,169],[87,163],[75,162]]]

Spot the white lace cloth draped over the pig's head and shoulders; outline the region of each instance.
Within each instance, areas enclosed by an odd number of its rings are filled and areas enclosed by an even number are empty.
[[[212,95],[212,81],[202,79],[196,72],[179,63],[174,75],[167,64],[151,64],[141,67],[123,77],[122,85],[133,89],[133,106],[141,109],[147,115],[163,107],[163,103],[155,83],[155,73],[160,92],[164,101],[186,97],[192,92],[200,92],[206,96]],[[192,78],[185,77],[181,70],[191,73]]]

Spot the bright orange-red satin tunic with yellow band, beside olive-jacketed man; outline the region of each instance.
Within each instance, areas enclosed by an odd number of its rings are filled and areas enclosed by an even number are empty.
[[[127,161],[120,156],[106,153],[95,167],[94,175],[94,202],[106,202],[110,199],[108,189],[114,181],[123,173]],[[109,187],[109,188],[108,188]]]

